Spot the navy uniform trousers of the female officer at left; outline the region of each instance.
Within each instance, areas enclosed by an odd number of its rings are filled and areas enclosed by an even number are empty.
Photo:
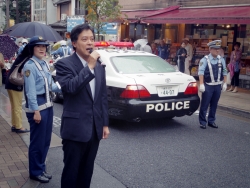
[[[38,105],[46,102],[45,95],[37,96]],[[30,124],[30,146],[29,146],[29,173],[30,176],[39,176],[44,171],[45,160],[49,150],[52,124],[53,124],[53,108],[49,107],[40,111],[41,122],[37,124],[34,121],[34,113],[26,113]]]

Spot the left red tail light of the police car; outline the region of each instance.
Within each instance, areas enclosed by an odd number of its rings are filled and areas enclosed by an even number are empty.
[[[127,99],[147,98],[150,97],[150,93],[142,85],[127,85],[120,97]]]

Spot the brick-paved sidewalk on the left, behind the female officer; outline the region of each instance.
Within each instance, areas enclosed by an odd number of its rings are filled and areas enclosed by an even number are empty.
[[[22,125],[29,129],[26,114]],[[29,179],[29,133],[11,132],[11,106],[9,98],[0,92],[0,188],[35,188],[39,182]],[[50,148],[61,146],[61,139],[52,133]]]

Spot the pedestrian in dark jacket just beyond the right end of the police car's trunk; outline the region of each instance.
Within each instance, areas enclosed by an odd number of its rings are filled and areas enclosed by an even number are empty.
[[[185,71],[185,59],[187,58],[187,50],[185,49],[185,42],[181,43],[180,49],[176,52],[175,62],[177,62],[179,71],[184,73]]]

